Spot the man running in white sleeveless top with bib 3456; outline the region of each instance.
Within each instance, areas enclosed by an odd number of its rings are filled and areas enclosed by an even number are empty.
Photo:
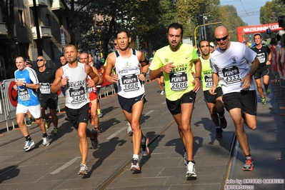
[[[86,137],[91,139],[91,144],[94,149],[98,146],[98,132],[87,129],[89,121],[89,93],[87,90],[87,75],[91,77],[89,86],[95,86],[99,81],[92,70],[91,66],[81,64],[77,61],[78,50],[74,45],[68,45],[64,49],[64,56],[68,64],[62,66],[56,71],[56,78],[51,84],[51,92],[56,93],[64,86],[66,89],[66,115],[78,132],[79,147],[81,153],[81,164],[78,174],[87,174],[87,154],[88,141]]]

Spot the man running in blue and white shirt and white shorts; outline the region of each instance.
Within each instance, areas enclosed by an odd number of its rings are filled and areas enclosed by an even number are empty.
[[[36,71],[26,66],[26,59],[23,56],[16,57],[15,72],[16,85],[14,90],[18,91],[18,104],[16,108],[16,121],[19,125],[19,129],[26,138],[24,151],[29,151],[34,146],[34,141],[29,135],[28,128],[24,122],[24,117],[27,111],[30,111],[34,116],[36,124],[39,124],[43,135],[43,146],[49,146],[49,137],[46,134],[46,128],[44,127],[44,121],[41,119],[41,105],[36,94],[36,89],[39,89],[39,81],[36,77]]]

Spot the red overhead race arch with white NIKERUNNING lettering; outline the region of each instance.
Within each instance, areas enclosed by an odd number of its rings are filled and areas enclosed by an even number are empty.
[[[236,28],[236,32],[239,42],[243,42],[245,40],[245,34],[266,33],[267,29],[271,29],[271,31],[283,30],[282,27],[279,27],[278,22],[276,22],[256,26],[240,26]]]

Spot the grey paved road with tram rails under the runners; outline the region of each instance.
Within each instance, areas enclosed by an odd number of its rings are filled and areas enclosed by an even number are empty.
[[[226,179],[228,185],[235,185],[234,179],[284,180],[285,120],[279,115],[283,111],[279,108],[285,99],[273,82],[271,89],[273,93],[266,96],[268,103],[258,105],[258,129],[246,129],[256,165],[254,171],[241,171],[244,156],[239,144],[231,157],[235,135],[228,113],[228,127],[223,137],[216,139],[215,126],[199,91],[191,119],[197,179],[187,180],[182,157],[184,147],[176,124],[166,108],[165,96],[159,94],[157,82],[152,81],[146,84],[148,102],[141,117],[141,128],[151,139],[151,154],[142,159],[140,156],[140,173],[129,170],[131,136],[126,133],[126,120],[116,96],[112,95],[101,99],[102,134],[99,149],[89,149],[88,175],[77,175],[81,161],[79,140],[69,121],[64,121],[65,114],[59,114],[60,134],[52,136],[49,131],[51,144],[48,147],[41,146],[41,132],[36,124],[29,127],[36,141],[35,148],[29,152],[23,150],[24,138],[20,131],[2,130],[0,189],[224,189]],[[0,124],[0,129],[5,127]],[[250,185],[255,189],[285,189],[284,184]]]

